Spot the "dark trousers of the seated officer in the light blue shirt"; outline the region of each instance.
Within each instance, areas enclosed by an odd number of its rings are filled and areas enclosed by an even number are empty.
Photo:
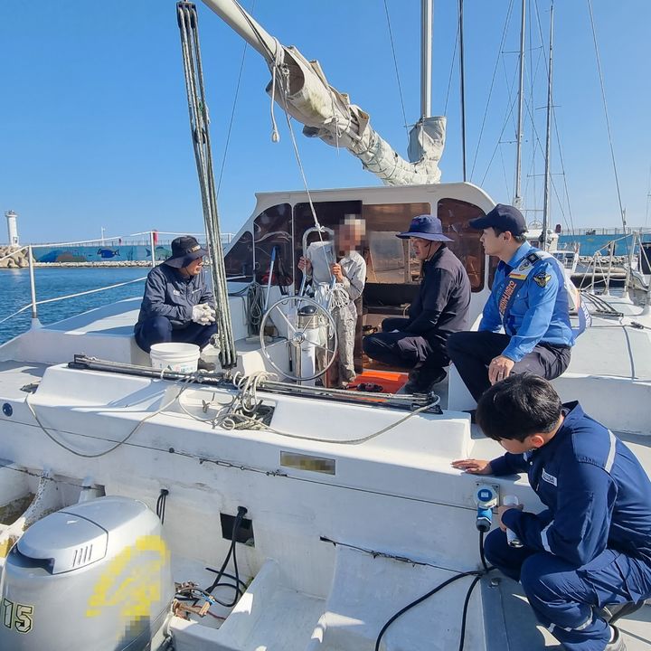
[[[490,386],[488,364],[502,354],[510,341],[509,335],[486,331],[449,335],[449,357],[476,401]],[[570,351],[569,346],[538,344],[531,353],[515,363],[511,373],[533,373],[553,380],[568,367]]]

